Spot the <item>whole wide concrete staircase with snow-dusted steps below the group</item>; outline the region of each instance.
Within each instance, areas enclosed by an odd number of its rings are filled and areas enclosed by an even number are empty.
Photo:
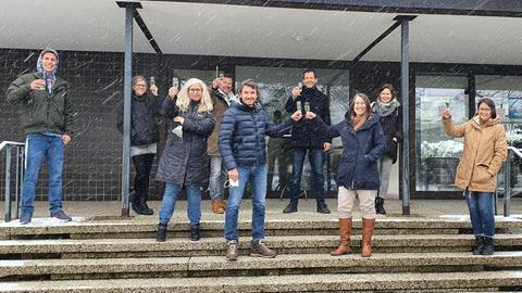
[[[239,224],[237,262],[226,262],[223,221],[202,222],[188,239],[172,224],[157,243],[142,220],[0,225],[0,292],[472,292],[522,291],[522,221],[497,220],[497,252],[473,256],[470,224],[458,218],[378,218],[374,255],[330,256],[336,220],[266,222],[272,259],[249,252],[249,221]]]

